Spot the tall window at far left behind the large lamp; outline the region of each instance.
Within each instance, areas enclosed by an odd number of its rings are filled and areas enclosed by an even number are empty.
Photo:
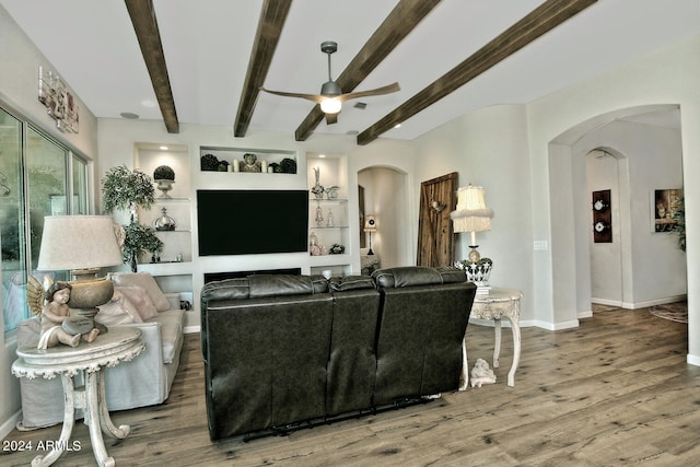
[[[27,275],[44,279],[35,270],[44,217],[89,213],[88,167],[68,148],[2,107],[0,154],[0,272],[8,332],[30,316]]]

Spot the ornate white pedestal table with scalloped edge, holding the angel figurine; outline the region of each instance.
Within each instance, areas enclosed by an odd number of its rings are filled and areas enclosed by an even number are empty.
[[[57,447],[45,457],[35,457],[32,460],[33,466],[49,466],[63,454],[75,424],[75,409],[84,410],[85,424],[90,428],[90,441],[97,464],[115,465],[114,457],[107,456],[102,433],[124,439],[129,434],[130,428],[126,424],[117,428],[109,418],[103,369],[116,366],[119,362],[129,361],[141,353],[145,345],[140,337],[140,329],[113,326],[108,332],[100,335],[93,342],[81,341],[75,348],[58,345],[46,350],[36,347],[18,349],[19,359],[12,364],[12,374],[31,380],[39,376],[51,380],[60,375],[66,396],[63,428]],[[85,375],[84,388],[73,383],[73,376],[81,372]]]

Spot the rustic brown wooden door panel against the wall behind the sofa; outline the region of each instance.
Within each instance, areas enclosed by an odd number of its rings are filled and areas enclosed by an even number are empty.
[[[452,266],[455,262],[454,230],[450,213],[456,207],[456,172],[420,184],[418,266]]]

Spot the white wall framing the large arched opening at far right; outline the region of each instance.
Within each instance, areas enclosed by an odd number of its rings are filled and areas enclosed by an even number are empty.
[[[544,284],[542,289],[550,291],[535,296],[535,313],[542,320],[555,317],[557,323],[560,315],[563,319],[570,319],[575,317],[576,307],[575,301],[570,303],[565,300],[576,296],[575,258],[559,255],[559,250],[569,249],[560,248],[560,245],[568,245],[575,235],[573,223],[565,221],[567,209],[570,210],[572,203],[558,205],[558,200],[568,195],[565,191],[562,191],[564,195],[552,191],[550,186],[553,180],[562,178],[556,171],[565,171],[565,167],[550,166],[549,162],[556,159],[555,152],[571,152],[571,145],[602,121],[612,121],[625,114],[637,114],[644,106],[679,105],[685,129],[681,152],[687,201],[687,262],[695,265],[700,260],[700,248],[693,245],[695,232],[700,232],[700,209],[693,203],[700,199],[700,186],[695,183],[692,175],[700,173],[700,160],[695,156],[700,153],[700,133],[693,130],[700,126],[700,94],[697,91],[699,51],[700,36],[695,36],[528,105],[532,206],[537,208],[532,211],[533,234],[551,243],[551,250],[546,255],[536,255],[533,265],[535,283]],[[571,164],[568,166],[571,167]],[[574,270],[573,278],[555,273],[555,265]],[[687,275],[691,311],[688,360],[699,364],[700,312],[692,311],[698,310],[696,303],[700,300],[700,271],[689,267]],[[555,289],[559,296],[553,293]]]

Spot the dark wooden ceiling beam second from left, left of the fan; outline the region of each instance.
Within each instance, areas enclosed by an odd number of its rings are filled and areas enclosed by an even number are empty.
[[[292,5],[292,0],[266,0],[260,11],[258,28],[248,60],[248,71],[238,102],[236,121],[233,127],[234,136],[245,137],[253,118],[255,102],[258,98],[260,86],[265,84],[265,78],[270,69],[275,49],[279,43],[284,21]]]

